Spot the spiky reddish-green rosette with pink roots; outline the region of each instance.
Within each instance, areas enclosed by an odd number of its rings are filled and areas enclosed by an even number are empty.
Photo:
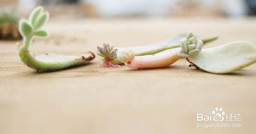
[[[100,63],[101,66],[108,66],[111,68],[120,68],[120,65],[112,64],[111,62],[117,57],[116,51],[114,46],[110,46],[109,44],[103,44],[103,47],[97,46],[97,54],[104,58],[103,61]]]

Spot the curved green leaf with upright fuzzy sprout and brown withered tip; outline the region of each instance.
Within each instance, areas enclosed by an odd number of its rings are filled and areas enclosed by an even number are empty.
[[[40,29],[49,18],[49,13],[43,10],[42,7],[37,7],[30,14],[29,21],[20,20],[19,22],[19,31],[24,39],[23,43],[20,44],[22,47],[19,50],[19,57],[26,65],[37,71],[53,71],[88,64],[89,61],[95,58],[93,52],[87,52],[81,56],[63,56],[47,53],[34,57],[28,49],[33,37],[46,37],[48,35],[46,31]]]

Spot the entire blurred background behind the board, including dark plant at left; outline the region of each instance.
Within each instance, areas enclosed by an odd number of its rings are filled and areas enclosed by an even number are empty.
[[[180,18],[190,23],[201,18],[217,22],[256,15],[256,0],[0,0],[0,5],[0,40],[22,38],[17,29],[19,18],[27,18],[39,5],[50,12],[51,20],[76,23],[87,18],[102,23],[105,18],[123,22],[131,18]]]

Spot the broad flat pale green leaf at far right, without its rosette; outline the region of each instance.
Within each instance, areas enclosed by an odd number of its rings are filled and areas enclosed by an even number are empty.
[[[256,48],[247,41],[234,41],[224,45],[202,49],[188,58],[204,71],[229,73],[256,62]]]

